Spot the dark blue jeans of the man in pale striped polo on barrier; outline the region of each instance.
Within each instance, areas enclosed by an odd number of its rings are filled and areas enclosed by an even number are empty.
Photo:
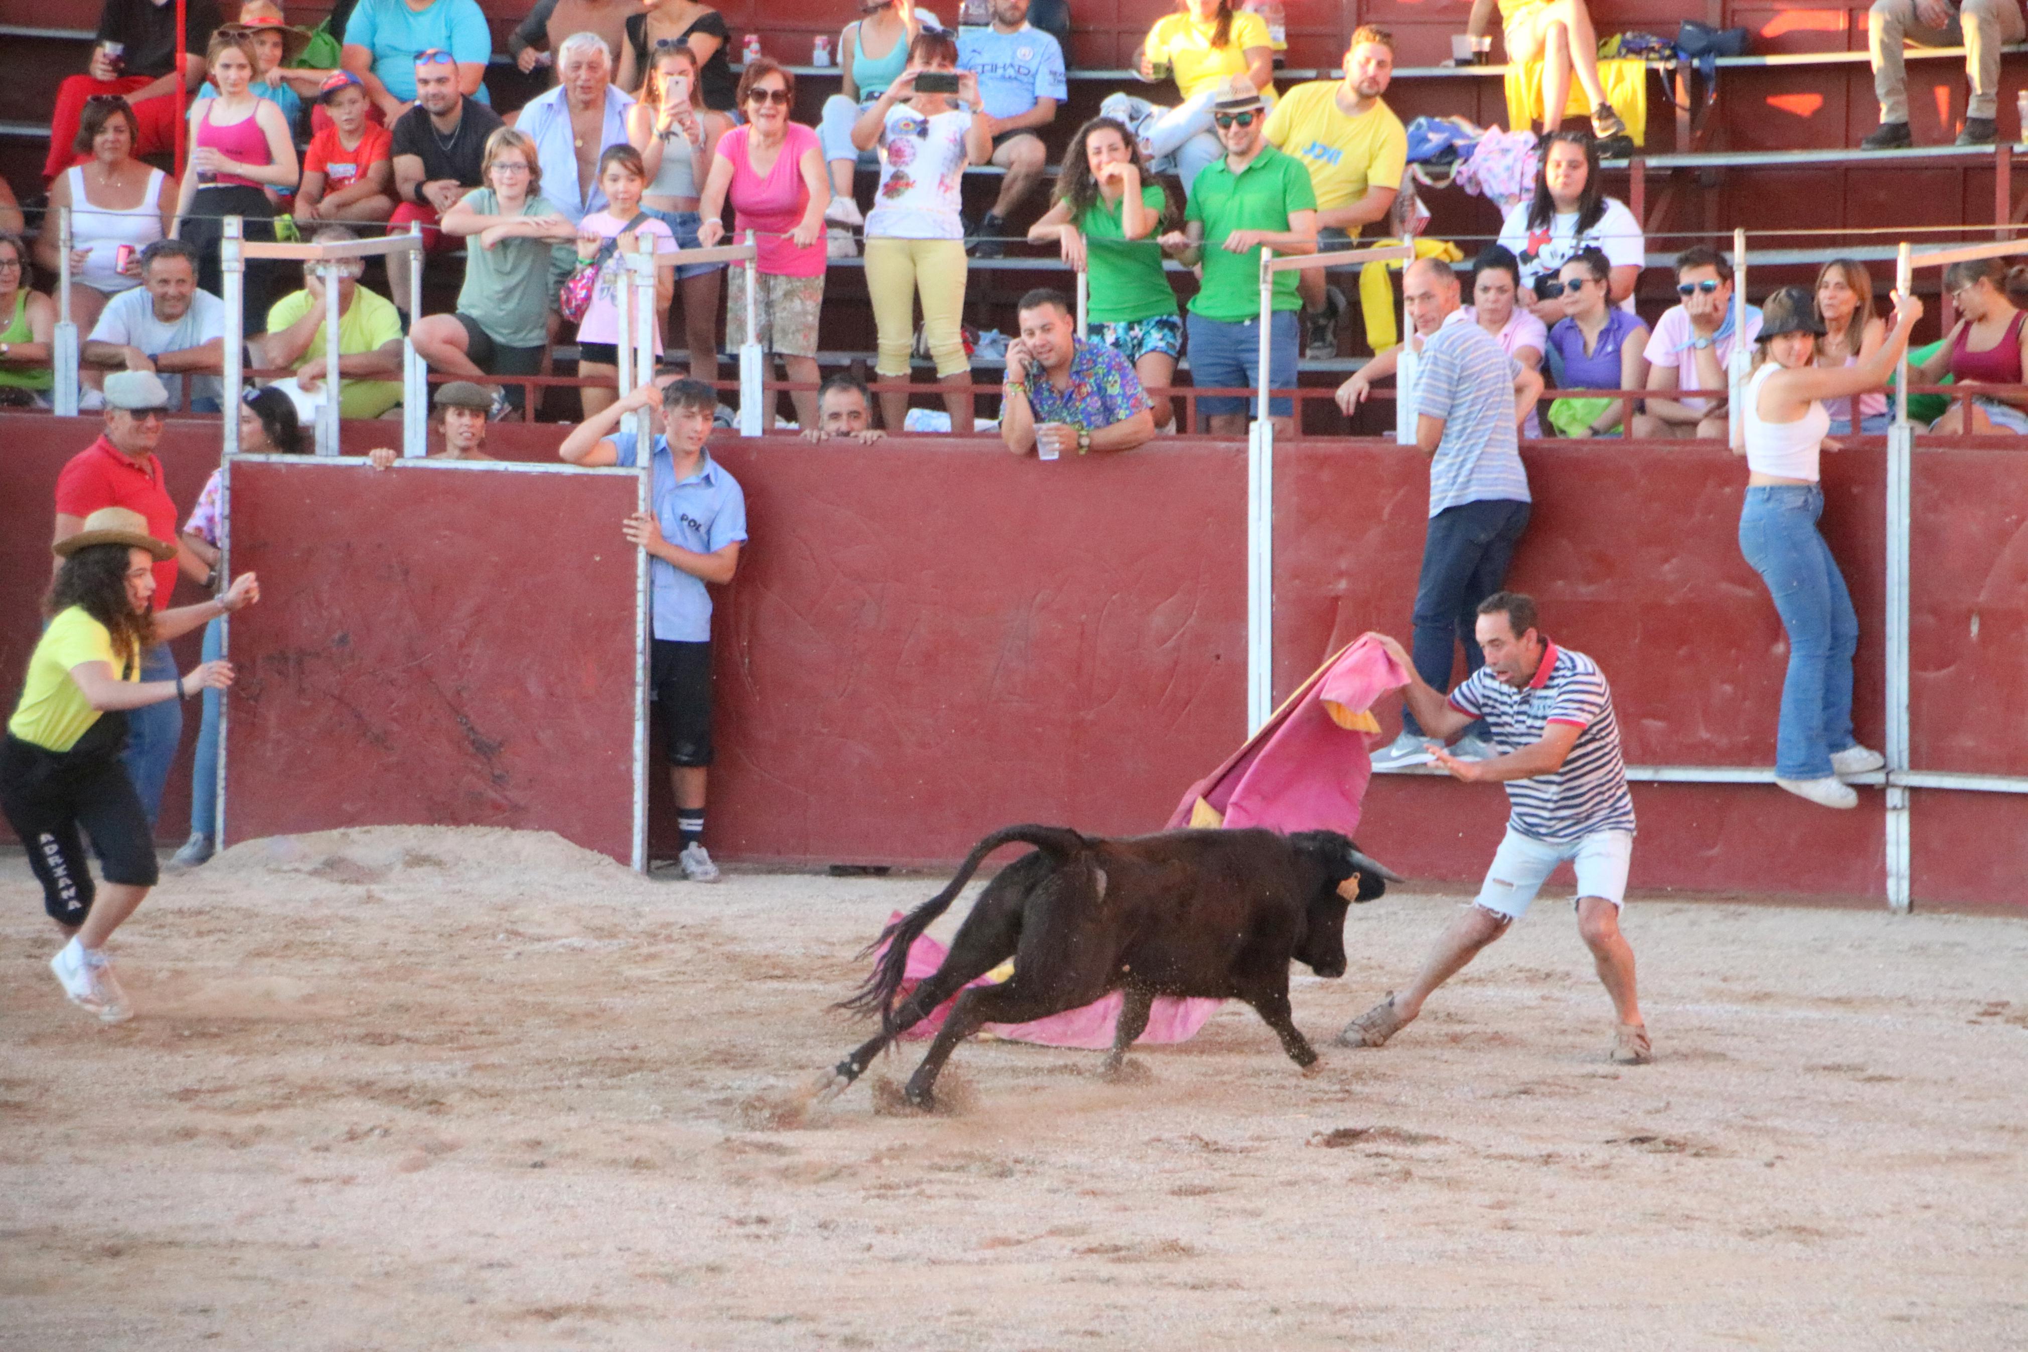
[[[1416,584],[1416,675],[1430,689],[1450,689],[1450,665],[1464,643],[1464,673],[1487,665],[1472,626],[1478,602],[1507,582],[1527,503],[1458,503],[1430,517],[1422,545],[1422,580]],[[1422,734],[1416,716],[1403,709],[1401,728]]]

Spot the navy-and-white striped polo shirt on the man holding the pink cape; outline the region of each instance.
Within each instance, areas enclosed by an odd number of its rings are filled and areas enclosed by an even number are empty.
[[[1484,718],[1501,752],[1541,740],[1549,724],[1584,728],[1564,766],[1551,774],[1507,780],[1513,813],[1507,829],[1537,841],[1574,841],[1594,831],[1633,831],[1620,726],[1612,718],[1606,673],[1584,653],[1543,641],[1535,679],[1515,689],[1480,667],[1450,691],[1450,707]]]

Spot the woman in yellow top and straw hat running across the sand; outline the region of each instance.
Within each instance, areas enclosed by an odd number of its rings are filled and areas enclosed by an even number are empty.
[[[85,529],[57,543],[63,568],[49,590],[43,630],[20,703],[0,746],[0,811],[28,847],[43,908],[69,943],[49,961],[63,993],[107,1024],[134,1009],[105,961],[105,938],[156,882],[154,839],[134,780],[120,764],[126,709],[225,689],[233,669],[201,663],[174,681],[142,681],[140,655],[260,596],[241,574],[217,600],[154,614],[154,564],[176,545],[148,535],[128,507],[101,507]],[[95,896],[79,829],[105,874]],[[93,904],[95,902],[95,904]]]

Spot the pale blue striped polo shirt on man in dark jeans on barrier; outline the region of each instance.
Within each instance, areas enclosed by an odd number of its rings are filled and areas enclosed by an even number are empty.
[[[1430,460],[1430,515],[1464,503],[1527,503],[1515,436],[1521,363],[1464,310],[1444,316],[1416,363],[1416,411],[1444,420]]]

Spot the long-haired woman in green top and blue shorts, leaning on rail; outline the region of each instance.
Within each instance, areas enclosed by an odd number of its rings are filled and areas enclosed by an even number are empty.
[[[1089,272],[1087,318],[1093,339],[1134,363],[1154,403],[1154,426],[1174,424],[1168,389],[1182,357],[1176,290],[1162,272],[1156,239],[1174,229],[1168,195],[1150,182],[1140,144],[1126,124],[1093,118],[1077,128],[1057,172],[1057,201],[1028,229],[1028,243],[1055,239],[1063,261]]]

